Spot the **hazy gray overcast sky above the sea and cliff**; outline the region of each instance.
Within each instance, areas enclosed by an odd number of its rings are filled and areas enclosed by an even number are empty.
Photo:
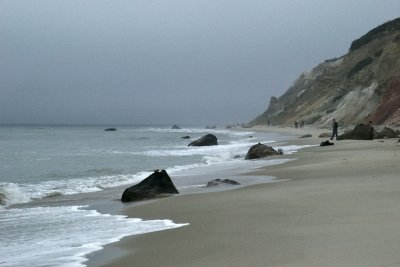
[[[399,0],[1,0],[1,123],[229,124]]]

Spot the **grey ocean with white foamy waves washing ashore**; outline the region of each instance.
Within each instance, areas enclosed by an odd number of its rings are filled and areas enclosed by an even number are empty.
[[[85,266],[86,255],[124,236],[190,224],[121,215],[123,190],[154,169],[165,169],[183,194],[203,193],[216,178],[271,182],[235,176],[288,161],[244,160],[253,144],[269,143],[285,154],[300,148],[285,146],[288,136],[251,129],[105,128],[0,126],[0,266]],[[218,146],[188,147],[207,133],[217,136]]]

